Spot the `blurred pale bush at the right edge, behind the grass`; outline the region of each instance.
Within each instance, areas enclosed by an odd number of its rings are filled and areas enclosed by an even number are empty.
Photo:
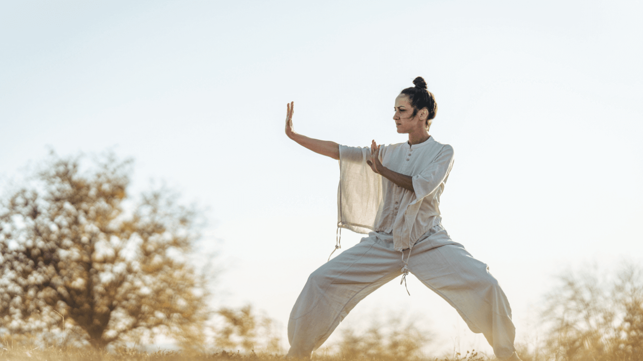
[[[547,296],[547,353],[556,360],[643,360],[643,270],[626,263],[614,277],[566,272]]]

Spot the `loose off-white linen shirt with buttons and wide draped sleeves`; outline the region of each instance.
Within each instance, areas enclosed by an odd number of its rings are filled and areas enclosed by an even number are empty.
[[[395,251],[410,249],[440,222],[440,195],[453,166],[453,147],[429,137],[416,145],[382,145],[382,164],[413,177],[413,189],[397,186],[366,163],[370,147],[340,145],[338,227],[357,233],[392,234]]]

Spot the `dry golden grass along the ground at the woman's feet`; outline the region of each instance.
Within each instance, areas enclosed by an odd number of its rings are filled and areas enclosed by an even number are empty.
[[[370,330],[372,331],[372,330]],[[345,337],[332,347],[322,348],[312,355],[312,361],[496,361],[493,355],[485,355],[475,350],[451,355],[428,355],[420,349],[421,344],[412,339],[399,340],[395,344],[390,339],[356,340]],[[390,336],[390,335],[389,335]],[[357,342],[356,342],[357,341]],[[374,346],[380,344],[381,346]],[[238,345],[240,346],[240,345]],[[258,345],[257,345],[258,346]],[[552,349],[527,349],[518,344],[518,353],[524,361],[643,361],[643,353],[638,349],[606,349],[600,344],[579,345],[574,352],[553,351]],[[632,352],[633,351],[633,352]],[[0,344],[2,361],[272,361],[284,360],[284,351],[268,352],[245,351],[242,347],[235,351],[141,351],[138,348],[112,347],[95,349],[87,347],[27,346],[21,344]],[[295,360],[296,361],[296,360]]]

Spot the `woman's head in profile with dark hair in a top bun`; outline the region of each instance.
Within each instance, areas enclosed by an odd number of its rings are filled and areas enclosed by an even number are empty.
[[[422,123],[424,123],[424,127],[428,130],[438,109],[437,103],[435,102],[435,96],[426,89],[426,82],[421,76],[415,78],[415,80],[413,80],[413,84],[415,84],[414,87],[404,89],[400,92],[399,96],[397,96],[397,99],[395,100],[395,116],[400,119],[404,119],[405,116],[403,116],[403,114],[398,114],[398,105],[401,103],[408,103],[408,105],[412,107],[413,113],[406,115],[406,117],[408,117],[408,119],[413,119],[416,116],[419,116],[419,121],[422,121]]]

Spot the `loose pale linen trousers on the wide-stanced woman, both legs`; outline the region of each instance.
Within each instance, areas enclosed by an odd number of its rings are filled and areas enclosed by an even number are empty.
[[[403,266],[392,236],[371,232],[312,272],[290,315],[288,355],[310,357],[361,299],[400,276]],[[515,328],[507,297],[487,265],[453,242],[442,225],[415,243],[408,268],[451,304],[471,331],[484,334],[496,357],[511,357]]]

